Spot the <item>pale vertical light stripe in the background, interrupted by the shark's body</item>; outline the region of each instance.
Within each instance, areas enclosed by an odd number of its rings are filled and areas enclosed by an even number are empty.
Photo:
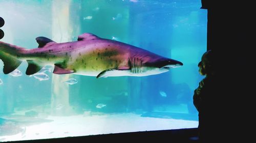
[[[71,40],[69,31],[70,0],[55,0],[52,2],[52,40],[55,42],[68,42]],[[69,74],[52,76],[52,115],[72,114],[69,105],[69,84],[63,83],[69,79]]]

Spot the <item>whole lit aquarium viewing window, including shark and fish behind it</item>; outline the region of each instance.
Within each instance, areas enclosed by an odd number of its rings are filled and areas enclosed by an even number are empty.
[[[198,127],[199,0],[0,0],[0,142]]]

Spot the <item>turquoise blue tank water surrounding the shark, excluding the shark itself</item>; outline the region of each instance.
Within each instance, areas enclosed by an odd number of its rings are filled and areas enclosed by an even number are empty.
[[[38,36],[61,43],[93,33],[184,64],[157,75],[108,78],[56,75],[48,66],[49,78],[42,79],[25,74],[26,62],[19,76],[6,75],[1,61],[0,141],[197,127],[192,97],[203,78],[197,64],[207,29],[200,7],[196,0],[0,0],[3,42],[32,49]],[[70,78],[74,84],[65,82]]]

